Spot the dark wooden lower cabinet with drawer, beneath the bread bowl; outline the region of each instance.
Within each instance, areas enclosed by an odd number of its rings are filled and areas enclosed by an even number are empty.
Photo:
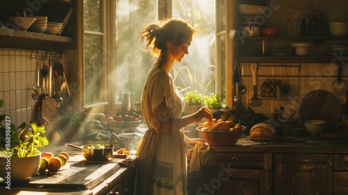
[[[271,194],[271,153],[211,153],[189,175],[190,194]]]

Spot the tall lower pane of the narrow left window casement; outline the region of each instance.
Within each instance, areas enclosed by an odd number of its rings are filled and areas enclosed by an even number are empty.
[[[102,37],[84,35],[85,46],[85,103],[101,100]]]

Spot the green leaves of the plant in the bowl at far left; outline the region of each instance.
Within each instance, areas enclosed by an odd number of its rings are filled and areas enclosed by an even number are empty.
[[[0,100],[0,108],[3,100]],[[5,125],[2,121],[5,120]],[[8,157],[24,158],[38,154],[38,149],[47,146],[49,141],[47,137],[41,134],[45,133],[45,125],[37,126],[35,122],[30,122],[31,128],[22,123],[19,126],[10,124],[10,117],[0,115],[0,146],[1,153]]]

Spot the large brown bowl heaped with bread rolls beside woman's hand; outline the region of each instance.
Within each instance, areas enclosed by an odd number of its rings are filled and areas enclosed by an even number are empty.
[[[233,146],[242,136],[245,126],[233,121],[208,121],[197,128],[198,133],[210,146]]]

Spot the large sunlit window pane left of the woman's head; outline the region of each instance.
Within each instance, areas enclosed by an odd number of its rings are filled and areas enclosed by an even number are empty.
[[[157,0],[116,1],[116,94],[122,101],[123,92],[134,92],[140,101],[143,84],[154,64],[143,52],[139,33],[145,24],[157,20]]]

